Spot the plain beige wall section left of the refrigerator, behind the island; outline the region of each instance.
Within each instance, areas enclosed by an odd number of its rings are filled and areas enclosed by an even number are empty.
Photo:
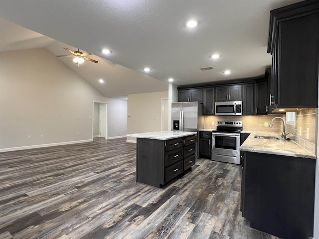
[[[160,131],[162,98],[168,98],[168,91],[128,95],[128,133]]]

